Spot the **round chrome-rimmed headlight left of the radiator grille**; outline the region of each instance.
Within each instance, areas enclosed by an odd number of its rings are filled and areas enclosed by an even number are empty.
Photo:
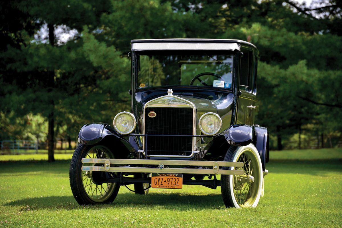
[[[135,129],[135,117],[130,112],[120,112],[114,117],[113,126],[120,134],[129,134]]]

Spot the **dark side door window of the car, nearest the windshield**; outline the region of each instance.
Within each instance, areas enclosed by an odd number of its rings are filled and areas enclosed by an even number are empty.
[[[240,89],[252,90],[253,52],[242,49],[244,57],[240,60]]]

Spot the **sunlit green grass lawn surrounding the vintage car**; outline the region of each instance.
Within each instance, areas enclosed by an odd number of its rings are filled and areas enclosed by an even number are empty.
[[[0,227],[342,227],[341,149],[270,157],[255,209],[226,209],[220,187],[187,185],[144,196],[122,186],[113,204],[83,207],[71,194],[69,157],[1,162]]]

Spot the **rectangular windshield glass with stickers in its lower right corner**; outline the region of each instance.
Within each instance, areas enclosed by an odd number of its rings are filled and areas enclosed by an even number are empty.
[[[233,55],[137,55],[137,88],[232,88]]]

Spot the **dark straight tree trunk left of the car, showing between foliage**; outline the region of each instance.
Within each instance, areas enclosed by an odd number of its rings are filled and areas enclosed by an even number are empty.
[[[54,34],[54,26],[53,24],[48,24],[48,28],[49,28],[49,41],[50,41],[50,45],[54,46],[55,45],[55,34]],[[48,87],[48,91],[52,92],[53,88],[54,88],[54,81],[55,81],[55,73],[54,71],[50,72],[50,74],[48,75],[48,83],[47,83],[47,87]],[[54,125],[55,125],[55,119],[54,119],[54,108],[55,108],[55,104],[54,104],[54,100],[53,98],[50,100],[49,102],[50,107],[51,107],[51,111],[49,114],[49,126],[48,126],[48,161],[54,161],[54,141],[55,141],[55,132],[54,132]]]

